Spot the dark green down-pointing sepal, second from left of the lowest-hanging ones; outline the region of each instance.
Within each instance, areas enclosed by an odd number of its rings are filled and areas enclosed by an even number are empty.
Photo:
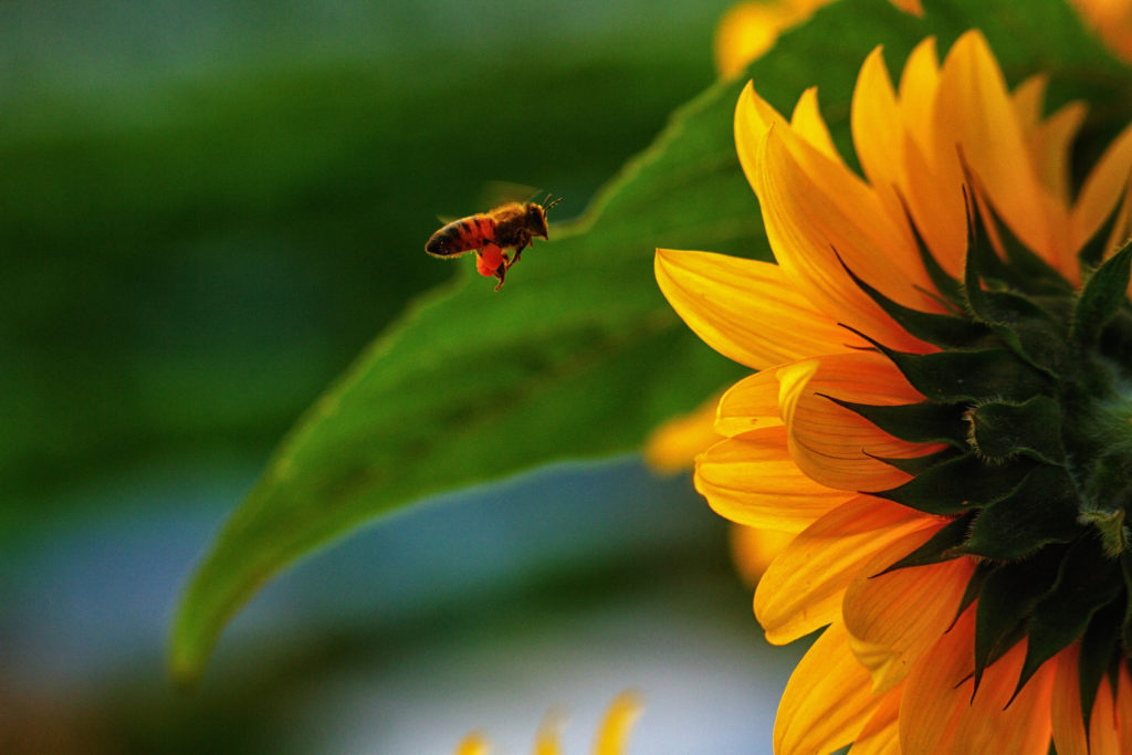
[[[1094,614],[1120,595],[1124,583],[1117,578],[1117,568],[1116,560],[1106,558],[1094,538],[1073,543],[1053,590],[1030,616],[1029,643],[1015,695],[1043,663],[1081,636]]]

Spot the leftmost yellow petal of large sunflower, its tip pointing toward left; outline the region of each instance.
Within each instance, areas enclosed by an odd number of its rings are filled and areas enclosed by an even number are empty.
[[[860,343],[770,263],[658,249],[657,282],[688,327],[724,357],[762,369]]]

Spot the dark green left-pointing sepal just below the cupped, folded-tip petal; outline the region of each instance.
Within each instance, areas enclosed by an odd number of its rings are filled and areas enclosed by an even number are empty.
[[[969,453],[941,462],[902,486],[872,495],[926,514],[963,514],[1006,498],[1034,467],[1028,460],[988,465]]]

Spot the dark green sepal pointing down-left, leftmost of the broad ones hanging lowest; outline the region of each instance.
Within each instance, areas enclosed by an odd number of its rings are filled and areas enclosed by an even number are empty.
[[[1032,558],[1002,564],[983,582],[975,615],[975,688],[987,666],[1022,637],[1024,624],[1057,578],[1065,548],[1044,548]]]

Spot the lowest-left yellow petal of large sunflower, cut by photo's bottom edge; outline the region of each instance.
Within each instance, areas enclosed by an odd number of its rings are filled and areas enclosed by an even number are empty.
[[[778,755],[831,753],[852,741],[876,711],[880,698],[846,640],[840,621],[830,625],[795,668],[774,720]]]

